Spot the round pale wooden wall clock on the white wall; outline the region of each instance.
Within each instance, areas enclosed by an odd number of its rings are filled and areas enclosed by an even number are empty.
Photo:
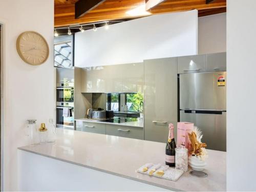
[[[20,58],[33,66],[41,65],[49,56],[46,39],[34,31],[20,34],[17,38],[16,48]]]

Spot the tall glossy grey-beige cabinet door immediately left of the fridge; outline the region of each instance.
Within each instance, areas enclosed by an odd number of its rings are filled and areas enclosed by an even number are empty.
[[[177,58],[145,60],[144,72],[145,140],[166,142],[168,124],[177,127]]]

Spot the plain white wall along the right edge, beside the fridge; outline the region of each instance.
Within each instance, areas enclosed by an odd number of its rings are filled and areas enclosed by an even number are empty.
[[[256,190],[255,10],[227,0],[227,190]]]

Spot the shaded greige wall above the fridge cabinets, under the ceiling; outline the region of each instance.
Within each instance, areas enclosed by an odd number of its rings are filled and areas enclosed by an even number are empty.
[[[226,13],[198,18],[198,54],[226,51]]]

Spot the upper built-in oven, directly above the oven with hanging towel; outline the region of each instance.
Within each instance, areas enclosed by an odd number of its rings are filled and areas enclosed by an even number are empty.
[[[57,106],[58,102],[74,102],[74,83],[57,83]]]

